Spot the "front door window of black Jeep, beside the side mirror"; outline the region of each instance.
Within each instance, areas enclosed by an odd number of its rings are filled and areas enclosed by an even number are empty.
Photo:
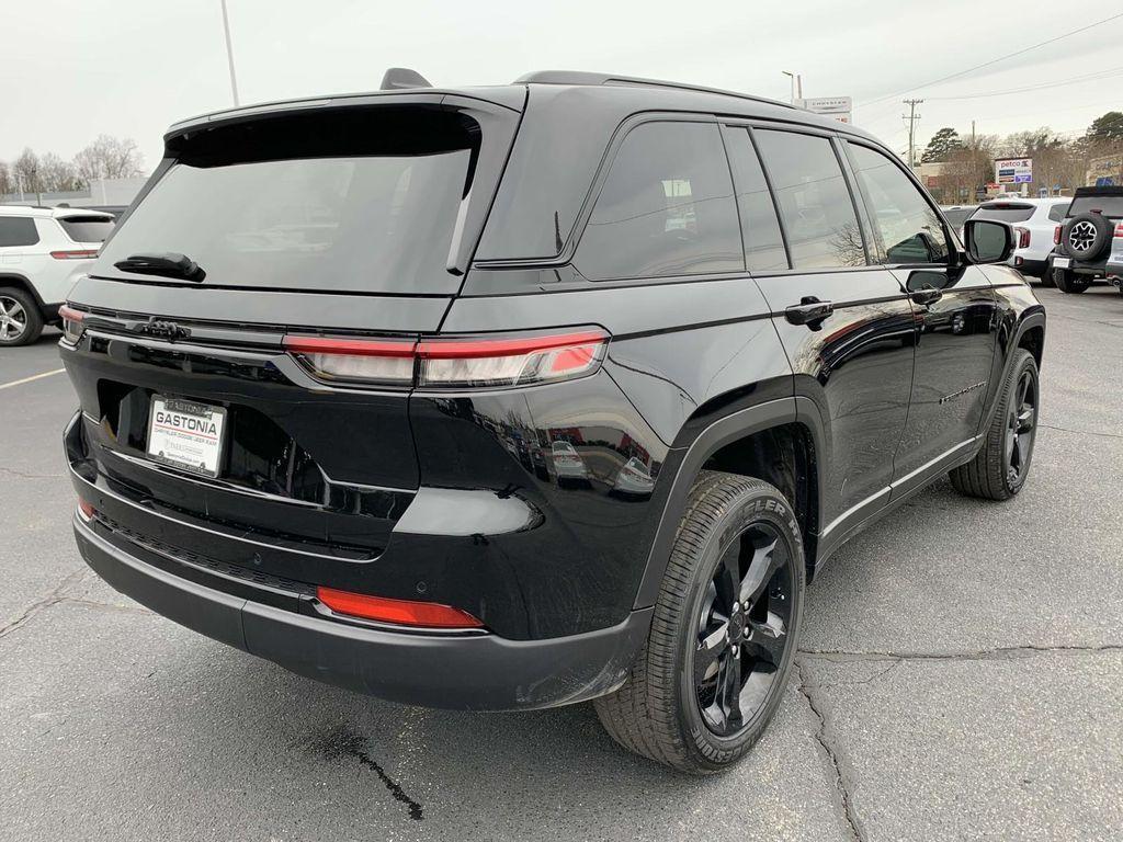
[[[850,144],[858,181],[887,263],[946,263],[940,216],[900,166],[867,146]]]

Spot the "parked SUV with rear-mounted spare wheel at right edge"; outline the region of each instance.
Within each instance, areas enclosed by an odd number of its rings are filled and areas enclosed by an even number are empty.
[[[1054,239],[1049,269],[1060,290],[1105,278],[1123,292],[1123,187],[1078,187]]]

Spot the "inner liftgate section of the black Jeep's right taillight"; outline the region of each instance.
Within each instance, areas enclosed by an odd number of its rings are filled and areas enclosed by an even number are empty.
[[[372,385],[413,384],[417,342],[286,336],[284,347],[323,381]]]

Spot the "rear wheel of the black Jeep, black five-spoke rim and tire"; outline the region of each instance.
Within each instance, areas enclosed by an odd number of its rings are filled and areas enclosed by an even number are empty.
[[[760,479],[702,472],[647,642],[623,686],[594,702],[612,739],[693,775],[740,760],[783,698],[804,588],[803,540],[787,500]],[[742,612],[740,602],[751,607]]]

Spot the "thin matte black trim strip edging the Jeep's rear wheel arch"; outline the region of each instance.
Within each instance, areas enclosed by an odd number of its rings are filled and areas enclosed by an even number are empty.
[[[683,455],[675,474],[655,540],[651,542],[647,567],[643,569],[643,578],[640,580],[639,593],[636,596],[636,608],[655,604],[670,556],[670,547],[674,543],[683,512],[686,510],[686,497],[706,459],[731,441],[789,423],[800,423],[807,428],[815,446],[815,452],[822,452],[824,431],[819,411],[810,399],[794,396],[758,403],[718,419],[706,427],[690,447],[685,448],[686,452]],[[816,469],[821,472],[822,460],[816,459],[815,465]],[[821,481],[822,477],[820,477],[820,488],[823,487]]]

